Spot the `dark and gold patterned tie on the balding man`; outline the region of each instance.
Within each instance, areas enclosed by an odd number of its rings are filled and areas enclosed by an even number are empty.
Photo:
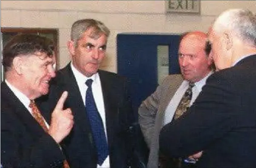
[[[187,111],[187,108],[190,106],[190,101],[192,98],[192,87],[195,86],[195,83],[190,82],[189,86],[181,98],[181,101],[178,104],[178,107],[175,111],[174,120],[178,119],[184,112]]]

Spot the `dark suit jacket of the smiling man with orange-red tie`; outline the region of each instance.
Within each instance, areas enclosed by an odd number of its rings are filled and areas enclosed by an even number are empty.
[[[1,164],[3,168],[57,168],[64,157],[55,140],[1,83]]]

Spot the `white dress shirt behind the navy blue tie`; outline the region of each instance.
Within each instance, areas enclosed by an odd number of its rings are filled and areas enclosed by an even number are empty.
[[[105,135],[106,135],[106,115],[105,115],[103,93],[102,93],[102,89],[101,89],[101,80],[100,80],[99,74],[95,73],[94,75],[92,75],[91,77],[88,78],[88,77],[84,76],[82,73],[80,73],[77,69],[75,69],[72,62],[71,62],[71,69],[72,69],[72,72],[74,73],[74,76],[75,76],[76,82],[78,84],[81,96],[83,98],[84,106],[85,106],[86,90],[88,88],[86,86],[85,82],[86,82],[87,79],[92,79],[93,80],[93,82],[92,82],[92,94],[93,94],[98,112],[101,115],[101,119],[102,119],[103,125],[104,125],[104,131],[105,131]],[[85,110],[84,110],[84,112],[85,112]],[[106,140],[107,140],[107,138],[106,138]],[[97,168],[110,168],[109,155],[106,157],[106,160],[104,160],[104,162],[101,166],[97,165]]]

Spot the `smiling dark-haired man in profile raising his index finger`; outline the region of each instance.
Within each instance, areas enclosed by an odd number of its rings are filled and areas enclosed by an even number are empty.
[[[21,34],[6,43],[2,54],[1,167],[69,168],[60,147],[73,126],[71,110],[63,110],[68,93],[61,95],[49,118],[34,101],[48,93],[55,76],[53,42]]]

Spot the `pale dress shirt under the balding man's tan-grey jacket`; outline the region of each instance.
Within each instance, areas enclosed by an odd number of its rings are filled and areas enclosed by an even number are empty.
[[[197,96],[202,90],[202,87],[205,85],[205,82],[207,78],[212,74],[213,72],[211,71],[208,73],[207,76],[205,76],[201,81],[198,81],[195,83],[195,86],[192,88],[192,98],[190,101],[190,106],[194,103],[196,100]],[[175,110],[178,107],[179,102],[181,101],[182,96],[186,92],[187,88],[189,86],[189,81],[184,80],[181,83],[181,86],[178,88],[178,90],[175,92],[173,95],[173,98],[171,99],[170,103],[168,104],[166,110],[165,110],[165,115],[164,115],[164,123],[163,125],[166,125],[167,123],[170,123],[173,120],[173,115],[175,113]]]

